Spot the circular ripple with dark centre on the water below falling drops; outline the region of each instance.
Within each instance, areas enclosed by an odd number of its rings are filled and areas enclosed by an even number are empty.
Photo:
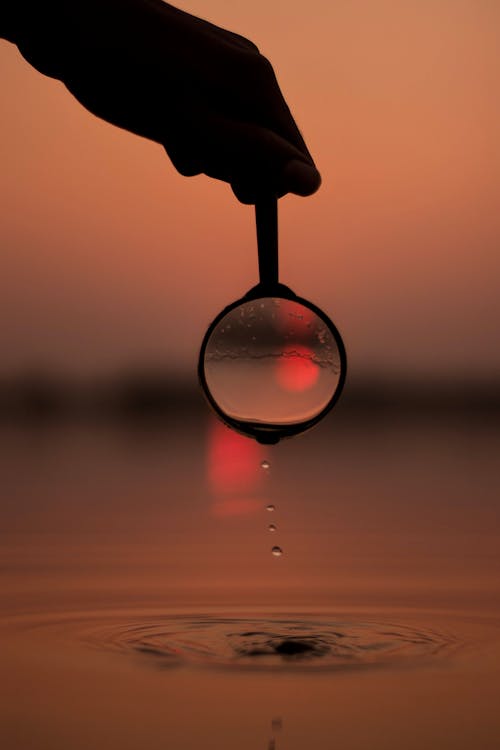
[[[457,646],[450,635],[394,623],[180,616],[96,627],[83,640],[162,669],[183,664],[264,669],[412,665],[443,658]]]

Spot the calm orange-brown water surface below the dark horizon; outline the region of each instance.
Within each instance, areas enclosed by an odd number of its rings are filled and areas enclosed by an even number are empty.
[[[180,410],[0,444],[2,747],[500,745],[491,422],[340,410],[264,449]]]

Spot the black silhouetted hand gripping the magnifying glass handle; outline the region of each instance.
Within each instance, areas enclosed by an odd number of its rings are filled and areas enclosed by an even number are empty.
[[[162,0],[10,4],[21,7],[4,36],[32,65],[98,117],[163,144],[181,174],[229,182],[243,203],[319,187],[273,69],[247,39]]]

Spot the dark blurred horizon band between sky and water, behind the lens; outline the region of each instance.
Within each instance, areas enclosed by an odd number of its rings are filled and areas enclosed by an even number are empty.
[[[200,411],[206,402],[196,374],[123,371],[108,377],[70,378],[24,372],[0,376],[0,422],[148,419]],[[409,379],[351,377],[336,411],[344,413],[446,414],[496,418],[500,413],[500,378]]]

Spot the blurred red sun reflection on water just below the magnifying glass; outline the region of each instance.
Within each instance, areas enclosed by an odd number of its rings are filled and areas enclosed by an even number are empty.
[[[207,479],[214,494],[216,516],[245,516],[262,510],[262,498],[252,497],[262,481],[264,449],[213,420],[207,441]]]

